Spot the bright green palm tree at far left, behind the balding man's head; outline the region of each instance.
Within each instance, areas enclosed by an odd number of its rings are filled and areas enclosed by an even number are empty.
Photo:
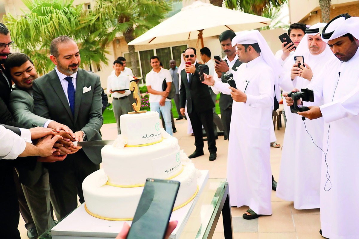
[[[49,59],[51,40],[60,35],[72,37],[79,45],[81,67],[91,63],[107,64],[103,46],[104,36],[99,23],[87,24],[90,14],[82,6],[73,6],[74,0],[23,0],[29,9],[21,16],[5,16],[16,48],[28,54],[37,71],[47,73],[53,68]]]

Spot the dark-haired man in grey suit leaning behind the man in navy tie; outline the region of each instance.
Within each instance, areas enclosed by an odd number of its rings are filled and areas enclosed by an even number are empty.
[[[45,125],[48,119],[34,114],[32,83],[38,78],[38,75],[31,59],[24,53],[12,53],[8,56],[5,68],[15,83],[9,100],[14,120],[27,128],[31,128],[33,125]],[[61,131],[58,134],[71,139],[69,134],[64,130]],[[71,152],[71,150],[61,148],[66,152]],[[54,157],[63,160],[66,156],[67,154]],[[55,198],[53,193],[50,194],[48,171],[43,167],[42,162],[37,162],[33,171],[23,168],[17,168],[17,171],[37,233],[41,235],[54,225],[51,205],[57,212]]]

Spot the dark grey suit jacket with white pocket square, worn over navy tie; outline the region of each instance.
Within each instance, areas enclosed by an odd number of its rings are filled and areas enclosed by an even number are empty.
[[[84,87],[91,87],[91,90],[83,93]],[[103,117],[99,76],[84,69],[78,70],[74,116],[55,69],[34,80],[33,99],[36,115],[65,124],[73,132],[83,130],[87,141],[101,140],[99,130]],[[92,146],[82,149],[93,163],[99,164],[102,162],[101,148]]]

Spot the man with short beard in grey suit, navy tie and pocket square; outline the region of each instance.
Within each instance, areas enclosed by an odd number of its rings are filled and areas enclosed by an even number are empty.
[[[76,141],[101,140],[99,76],[79,68],[79,48],[70,37],[53,39],[50,54],[55,69],[33,82],[35,114],[69,126]],[[77,195],[80,203],[84,202],[81,185],[85,177],[99,169],[101,148],[78,147],[64,161],[47,165],[60,218],[77,207]]]

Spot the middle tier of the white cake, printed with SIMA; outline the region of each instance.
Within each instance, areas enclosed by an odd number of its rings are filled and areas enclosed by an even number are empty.
[[[106,145],[101,154],[108,181],[116,185],[143,184],[146,178],[167,179],[182,168],[180,146],[174,137],[144,147]]]

